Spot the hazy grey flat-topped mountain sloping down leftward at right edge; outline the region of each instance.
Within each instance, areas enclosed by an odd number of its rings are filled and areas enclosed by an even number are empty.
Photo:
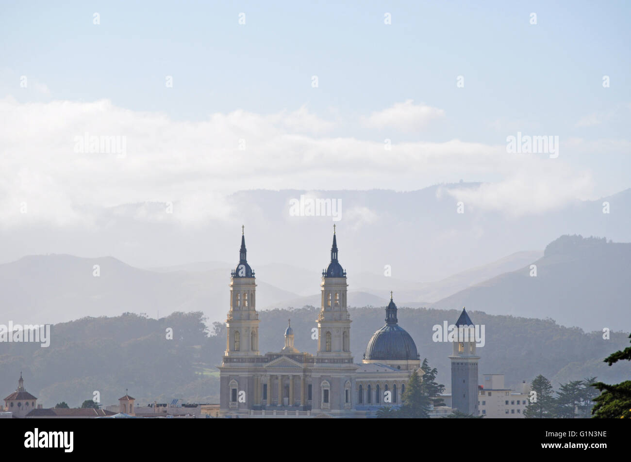
[[[631,330],[631,243],[562,236],[530,265],[430,304],[466,306],[494,315],[553,318],[591,332]],[[531,275],[532,274],[532,275]]]

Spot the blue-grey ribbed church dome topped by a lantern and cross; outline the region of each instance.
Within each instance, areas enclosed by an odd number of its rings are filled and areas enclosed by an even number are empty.
[[[372,361],[416,361],[419,359],[411,335],[397,324],[396,304],[390,298],[386,308],[386,325],[370,338],[364,359]]]

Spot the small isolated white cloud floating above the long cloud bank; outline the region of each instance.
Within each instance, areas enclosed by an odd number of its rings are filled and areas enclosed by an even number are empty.
[[[396,103],[391,108],[380,112],[373,112],[364,118],[367,127],[384,129],[393,128],[401,131],[413,132],[422,129],[430,120],[444,117],[445,111],[424,104],[415,105],[412,100]]]

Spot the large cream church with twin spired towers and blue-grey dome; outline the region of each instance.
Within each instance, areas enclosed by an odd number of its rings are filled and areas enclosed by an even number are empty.
[[[259,351],[256,279],[247,263],[245,235],[230,278],[227,344],[220,370],[220,413],[229,417],[364,417],[398,405],[411,373],[420,367],[416,345],[398,325],[396,304],[369,341],[361,364],[350,350],[351,318],[346,271],[338,260],[335,231],[331,261],[322,271],[317,351],[294,346],[290,322],[279,352]]]

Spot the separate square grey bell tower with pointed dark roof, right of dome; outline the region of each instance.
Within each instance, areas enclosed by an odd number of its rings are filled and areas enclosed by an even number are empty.
[[[466,309],[456,321],[458,337],[451,359],[451,407],[478,415],[478,359],[473,321]],[[464,334],[464,336],[463,336]]]

